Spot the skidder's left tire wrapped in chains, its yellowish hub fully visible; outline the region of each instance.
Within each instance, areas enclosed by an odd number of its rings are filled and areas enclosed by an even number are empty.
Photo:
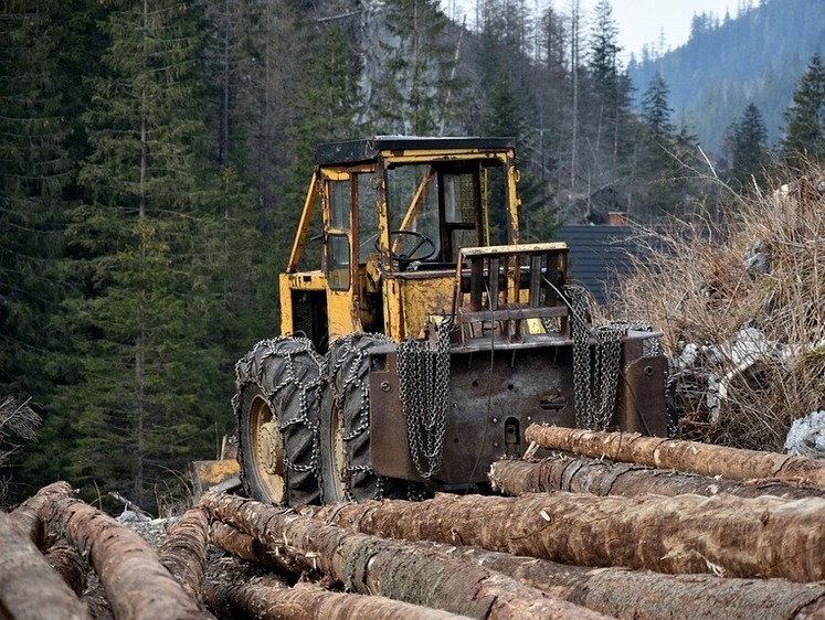
[[[305,338],[262,340],[235,365],[237,459],[246,493],[262,502],[320,501],[318,403],[325,362]]]

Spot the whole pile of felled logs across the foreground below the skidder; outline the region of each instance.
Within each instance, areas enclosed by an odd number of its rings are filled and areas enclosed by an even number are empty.
[[[212,492],[157,549],[51,484],[0,512],[0,618],[825,618],[825,461],[527,438],[558,452],[494,463],[504,495]]]

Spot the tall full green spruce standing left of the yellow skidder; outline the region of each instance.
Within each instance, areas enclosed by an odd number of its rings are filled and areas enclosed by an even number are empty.
[[[108,71],[85,117],[88,200],[68,231],[83,292],[67,302],[82,377],[57,399],[81,436],[70,473],[146,506],[212,443],[232,381],[214,331],[225,266],[198,20],[176,0],[113,8]]]

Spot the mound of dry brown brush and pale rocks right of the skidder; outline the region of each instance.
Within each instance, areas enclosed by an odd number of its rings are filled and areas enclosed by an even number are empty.
[[[782,450],[825,408],[825,174],[638,243],[612,310],[664,332],[680,437]]]

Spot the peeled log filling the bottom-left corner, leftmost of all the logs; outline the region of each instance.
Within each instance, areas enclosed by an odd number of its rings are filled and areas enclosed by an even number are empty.
[[[84,606],[27,536],[0,512],[0,616],[88,619]]]

